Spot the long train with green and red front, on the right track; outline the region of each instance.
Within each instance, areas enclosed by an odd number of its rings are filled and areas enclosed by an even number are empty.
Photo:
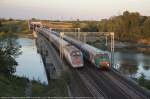
[[[50,31],[52,34],[59,36],[58,32]],[[110,65],[110,56],[109,53],[98,48],[95,48],[89,44],[85,44],[81,41],[75,40],[71,37],[64,35],[64,40],[68,41],[72,45],[76,46],[81,50],[85,60],[88,60],[94,66],[100,69],[109,69]]]

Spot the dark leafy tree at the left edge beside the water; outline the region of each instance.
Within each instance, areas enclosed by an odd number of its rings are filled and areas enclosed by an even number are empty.
[[[1,41],[3,46],[0,46],[0,73],[10,75],[15,72],[17,62],[15,57],[21,54],[19,46],[14,43],[14,40],[7,39]]]

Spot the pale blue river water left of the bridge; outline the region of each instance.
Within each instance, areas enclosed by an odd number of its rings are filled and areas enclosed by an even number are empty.
[[[37,53],[35,40],[19,38],[17,42],[22,46],[22,55],[16,58],[18,66],[15,75],[47,83],[44,65],[40,55]]]

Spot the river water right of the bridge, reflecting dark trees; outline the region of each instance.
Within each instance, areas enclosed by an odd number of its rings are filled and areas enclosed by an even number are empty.
[[[150,55],[142,53],[115,53],[115,64],[118,70],[130,77],[139,77],[143,73],[150,79]]]

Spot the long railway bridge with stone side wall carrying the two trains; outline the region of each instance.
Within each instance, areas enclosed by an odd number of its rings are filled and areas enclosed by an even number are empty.
[[[52,32],[55,31],[52,31],[52,29],[45,30],[45,33],[52,34]],[[150,92],[148,90],[141,88],[135,81],[125,77],[113,66],[109,70],[103,71],[97,69],[89,61],[85,61],[82,69],[72,68],[60,55],[63,51],[56,50],[56,46],[51,41],[52,38],[44,36],[44,32],[41,33],[41,31],[36,31],[36,33],[38,52],[43,57],[49,79],[57,79],[66,68],[71,71],[71,75],[74,78],[69,84],[71,97],[150,99]],[[64,34],[63,32],[60,33],[60,36],[55,35],[56,38],[60,39],[60,43],[62,40],[65,40]],[[106,34],[109,36],[108,33]],[[78,35],[81,36],[82,34]],[[106,37],[106,39],[108,38]],[[110,40],[113,40],[113,37]],[[111,45],[113,46],[113,43]],[[61,46],[59,47],[60,49]],[[114,51],[113,47],[111,47],[111,51]]]

